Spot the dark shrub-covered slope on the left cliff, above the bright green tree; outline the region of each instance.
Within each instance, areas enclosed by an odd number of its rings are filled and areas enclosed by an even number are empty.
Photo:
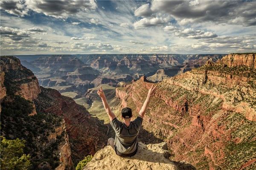
[[[58,146],[64,142],[64,132],[55,141],[48,141],[48,136],[61,125],[61,117],[51,113],[28,116],[32,103],[20,96],[6,97],[1,106],[1,135],[9,140],[26,141],[24,153],[31,156],[32,163],[29,169],[38,169],[43,162],[55,169],[59,165]]]

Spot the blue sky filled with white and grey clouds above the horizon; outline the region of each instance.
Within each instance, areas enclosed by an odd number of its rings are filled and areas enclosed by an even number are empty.
[[[1,55],[256,52],[256,1],[1,0]]]

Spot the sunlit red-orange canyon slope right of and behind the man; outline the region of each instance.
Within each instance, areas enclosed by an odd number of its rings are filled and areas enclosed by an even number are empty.
[[[255,54],[229,54],[157,83],[143,128],[199,170],[256,168],[255,63]],[[136,114],[151,84],[143,77],[116,97]]]

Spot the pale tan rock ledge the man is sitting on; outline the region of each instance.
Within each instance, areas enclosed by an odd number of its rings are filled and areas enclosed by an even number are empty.
[[[83,170],[195,170],[190,164],[171,161],[165,142],[143,144],[139,142],[135,156],[117,156],[111,146],[99,150]]]

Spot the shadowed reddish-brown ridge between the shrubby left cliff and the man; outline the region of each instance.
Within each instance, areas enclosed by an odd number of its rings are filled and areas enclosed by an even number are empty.
[[[64,118],[75,164],[85,155],[93,155],[105,146],[108,129],[98,119],[91,117],[83,106],[54,89],[41,87],[41,91],[34,100],[37,111]]]

